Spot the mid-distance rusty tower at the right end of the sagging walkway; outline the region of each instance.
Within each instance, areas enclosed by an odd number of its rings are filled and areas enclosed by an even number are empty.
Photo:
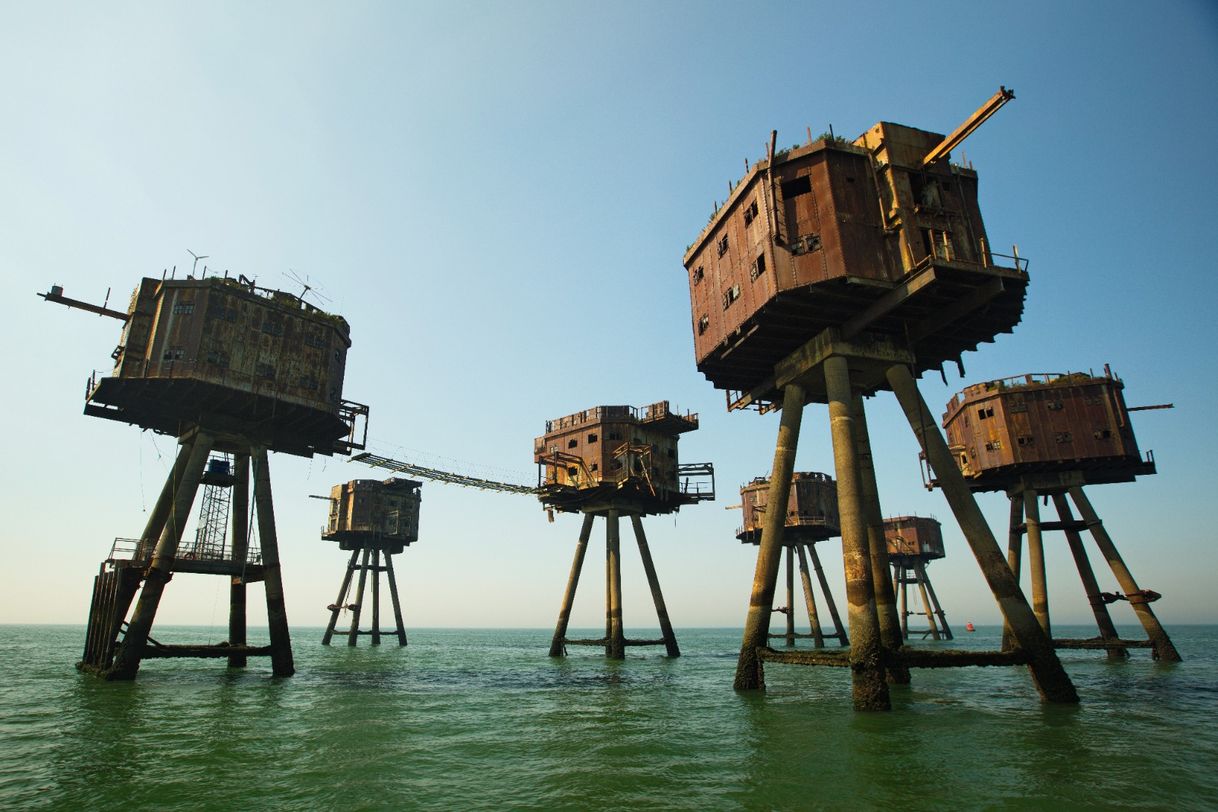
[[[565,656],[566,645],[603,645],[605,656],[621,660],[627,645],[660,645],[680,656],[669,622],[660,582],[643,533],[642,517],[670,514],[682,505],[715,498],[715,472],[709,463],[681,465],[677,439],[698,427],[698,415],[681,415],[667,401],[649,407],[602,405],[546,421],[546,433],[533,443],[538,465],[538,499],[552,510],[582,513],[583,527],[549,646],[552,657]],[[580,583],[592,522],[605,519],[605,635],[568,639],[566,626]],[[659,616],[661,639],[627,640],[621,623],[620,516],[630,516]]]

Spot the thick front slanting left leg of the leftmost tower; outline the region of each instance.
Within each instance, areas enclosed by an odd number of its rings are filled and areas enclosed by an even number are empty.
[[[157,606],[161,605],[164,584],[172,577],[173,561],[178,555],[178,544],[181,542],[181,532],[185,530],[186,520],[190,517],[190,508],[195,504],[199,481],[203,476],[203,467],[207,465],[207,455],[212,450],[212,442],[211,435],[200,431],[196,432],[192,442],[183,443],[183,448],[178,455],[179,463],[181,463],[183,455],[188,457],[181,464],[181,478],[172,486],[169,482],[166,483],[172,487],[172,508],[164,519],[164,526],[157,539],[156,549],[152,553],[152,562],[144,577],[144,589],[140,590],[140,598],[135,604],[132,622],[127,626],[123,644],[118,648],[118,653],[114,656],[113,667],[106,674],[108,679],[135,679],[135,674],[140,670],[144,646],[147,645]],[[174,464],[171,477],[175,476],[178,471],[179,465]]]

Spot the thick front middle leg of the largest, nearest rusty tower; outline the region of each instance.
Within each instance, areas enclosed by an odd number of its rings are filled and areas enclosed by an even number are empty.
[[[892,710],[892,702],[879,639],[879,617],[876,614],[876,588],[871,577],[871,545],[859,475],[859,444],[854,436],[850,368],[844,357],[829,355],[825,359],[823,369],[833,436],[833,470],[838,483],[854,709],[887,711]]]

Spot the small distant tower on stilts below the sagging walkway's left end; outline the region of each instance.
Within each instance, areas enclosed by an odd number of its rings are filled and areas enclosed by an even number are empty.
[[[393,556],[412,542],[419,541],[419,492],[423,483],[414,480],[389,478],[352,480],[336,485],[330,491],[330,516],[322,538],[339,542],[339,549],[351,550],[347,571],[339,587],[339,599],[330,604],[330,623],[322,637],[323,645],[330,645],[339,612],[351,612],[351,627],[345,632],[347,645],[356,645],[361,634],[371,635],[373,645],[380,645],[380,573],[389,576],[389,594],[393,601],[393,620],[397,625],[397,643],[406,645],[406,627],[402,625],[402,603],[397,595],[393,577]],[[381,565],[381,554],[385,564]],[[354,600],[347,603],[351,579],[359,572]],[[364,583],[373,573],[373,622],[371,629],[361,631],[359,617],[364,606]],[[340,632],[343,634],[343,632]]]

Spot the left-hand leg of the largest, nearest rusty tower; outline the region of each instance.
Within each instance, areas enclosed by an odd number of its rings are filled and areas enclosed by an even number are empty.
[[[749,597],[749,614],[744,618],[744,639],[736,663],[737,690],[764,689],[761,660],[758,649],[770,644],[770,615],[773,612],[773,589],[778,578],[778,561],[782,556],[782,534],[786,509],[790,497],[790,477],[795,470],[795,449],[799,447],[799,425],[804,416],[806,392],[798,383],[788,383],[782,393],[782,415],[778,422],[778,442],[773,449],[773,466],[766,504],[773,510],[765,513],[761,523],[761,543],[758,545],[758,565],[753,573],[753,593]]]

